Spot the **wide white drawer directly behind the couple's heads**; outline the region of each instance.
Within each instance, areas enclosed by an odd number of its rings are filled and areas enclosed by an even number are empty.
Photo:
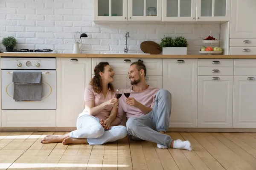
[[[99,62],[108,62],[114,69],[116,75],[128,75],[132,62],[138,61],[139,58],[93,58],[92,73]],[[143,63],[147,69],[147,75],[162,75],[163,59],[143,58]]]

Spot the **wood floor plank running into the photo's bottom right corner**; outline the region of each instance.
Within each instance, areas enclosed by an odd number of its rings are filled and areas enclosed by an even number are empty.
[[[245,150],[243,150],[238,145],[231,142],[229,139],[227,139],[225,136],[223,136],[221,133],[212,133],[212,135],[221,141],[223,144],[225,144],[230,150],[233,150],[234,153],[236,153],[238,156],[240,156],[241,159],[244,159],[248,164],[250,164],[254,169],[256,169],[256,158],[251,156],[249,153],[247,153]]]

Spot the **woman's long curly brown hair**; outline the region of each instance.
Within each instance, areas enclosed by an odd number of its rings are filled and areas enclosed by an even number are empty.
[[[93,86],[93,91],[96,93],[100,93],[103,90],[102,87],[102,79],[99,75],[100,72],[104,72],[105,66],[109,65],[108,62],[100,62],[96,67],[94,68],[94,76],[90,80],[89,85]],[[108,83],[108,88],[111,89],[111,91],[114,91],[113,85],[111,83]]]

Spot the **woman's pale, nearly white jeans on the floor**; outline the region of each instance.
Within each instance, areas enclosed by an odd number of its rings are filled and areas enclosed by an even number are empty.
[[[90,145],[99,145],[106,142],[114,142],[127,135],[125,126],[111,126],[106,130],[100,124],[99,118],[91,115],[83,115],[76,121],[76,128],[70,132],[71,138],[86,138]]]

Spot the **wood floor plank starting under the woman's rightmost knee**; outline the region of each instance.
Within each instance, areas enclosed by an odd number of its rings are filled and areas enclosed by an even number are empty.
[[[117,169],[132,170],[131,151],[128,136],[117,141]]]

